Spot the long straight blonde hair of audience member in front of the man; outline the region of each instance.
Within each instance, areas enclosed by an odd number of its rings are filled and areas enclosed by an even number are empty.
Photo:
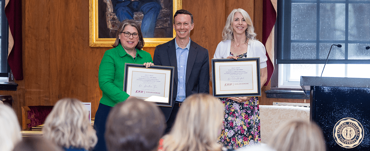
[[[165,151],[218,151],[223,105],[209,94],[193,94],[181,105],[174,126],[164,136]]]

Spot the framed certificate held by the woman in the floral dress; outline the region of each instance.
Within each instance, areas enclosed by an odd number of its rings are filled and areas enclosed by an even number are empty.
[[[212,59],[213,96],[261,96],[259,58]]]

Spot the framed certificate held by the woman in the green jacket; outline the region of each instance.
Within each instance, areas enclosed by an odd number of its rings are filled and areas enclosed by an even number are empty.
[[[154,102],[157,106],[172,105],[174,67],[125,63],[123,91],[130,96]]]

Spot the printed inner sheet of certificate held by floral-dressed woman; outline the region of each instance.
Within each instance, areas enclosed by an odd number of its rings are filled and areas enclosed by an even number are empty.
[[[253,66],[219,66],[220,91],[253,89]]]

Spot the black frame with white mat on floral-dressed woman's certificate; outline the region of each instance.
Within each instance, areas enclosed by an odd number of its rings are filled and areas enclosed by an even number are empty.
[[[218,86],[216,84],[216,80],[215,80],[215,64],[216,63],[221,63],[223,65],[226,65],[228,66],[229,64],[232,64],[232,63],[240,63],[240,64],[250,64],[250,63],[254,63],[255,62],[255,71],[256,71],[256,89],[257,89],[257,92],[245,92],[245,93],[227,93],[227,94],[222,94],[222,93],[218,93],[218,91],[216,91],[218,89]],[[236,66],[237,67],[237,66]],[[219,71],[220,72],[220,71]],[[252,71],[253,72],[253,71]],[[221,79],[221,76],[220,76],[220,79]],[[221,83],[221,82],[220,82]],[[233,85],[232,85],[233,86]],[[255,87],[255,86],[253,86]],[[243,90],[240,90],[240,91],[243,91]],[[260,81],[260,64],[259,64],[259,57],[255,57],[255,58],[238,58],[237,60],[235,59],[212,59],[212,94],[213,96],[215,96],[216,98],[229,98],[229,97],[243,97],[243,96],[261,96],[261,81]]]

